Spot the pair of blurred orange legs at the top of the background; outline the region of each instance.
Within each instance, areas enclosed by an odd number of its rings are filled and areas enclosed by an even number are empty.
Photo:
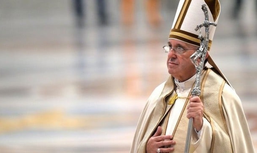
[[[160,0],[144,0],[148,22],[158,27],[162,21],[160,15]],[[121,21],[125,26],[134,22],[135,0],[121,0]]]

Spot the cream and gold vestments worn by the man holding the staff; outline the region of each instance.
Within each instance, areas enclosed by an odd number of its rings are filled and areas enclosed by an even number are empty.
[[[194,129],[192,131],[190,153],[254,152],[248,124],[236,92],[213,69],[207,69],[202,80],[203,126],[199,135]],[[188,126],[185,105],[188,100],[177,99],[173,105],[168,105],[168,99],[175,91],[179,97],[188,97],[192,87],[191,84],[190,90],[187,89],[189,82],[190,79],[183,86],[175,84],[174,78],[169,77],[155,88],[140,115],[130,153],[146,153],[147,140],[160,125],[164,135],[174,133],[176,144],[173,152],[184,151]]]

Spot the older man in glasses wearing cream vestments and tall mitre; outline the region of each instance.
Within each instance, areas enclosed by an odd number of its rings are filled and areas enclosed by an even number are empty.
[[[163,47],[170,76],[147,100],[131,153],[184,152],[189,118],[193,118],[189,152],[254,152],[240,98],[209,53],[215,26],[210,26],[205,58],[212,67],[203,68],[201,95],[191,95],[196,68],[190,56],[200,47],[195,28],[205,20],[202,4],[209,21],[218,22],[218,0],[180,0],[168,45]]]

